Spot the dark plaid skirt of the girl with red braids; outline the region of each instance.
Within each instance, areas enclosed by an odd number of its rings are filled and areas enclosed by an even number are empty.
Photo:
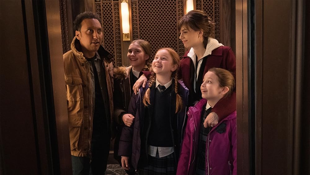
[[[175,175],[176,165],[174,154],[159,158],[158,151],[156,157],[148,155],[148,166],[138,169],[139,175]]]

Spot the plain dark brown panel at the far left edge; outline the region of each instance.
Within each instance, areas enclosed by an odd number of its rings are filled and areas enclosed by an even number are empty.
[[[27,26],[24,23],[25,11],[22,6],[21,1],[0,1],[0,154],[3,174],[40,172],[25,36]]]

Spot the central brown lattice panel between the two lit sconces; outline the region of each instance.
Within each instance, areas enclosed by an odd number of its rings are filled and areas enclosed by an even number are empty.
[[[131,8],[133,26],[139,24],[133,27],[133,39],[148,41],[152,56],[164,47],[173,48],[183,55],[184,47],[179,42],[177,30],[179,11],[183,16],[183,1],[135,0],[131,1]]]

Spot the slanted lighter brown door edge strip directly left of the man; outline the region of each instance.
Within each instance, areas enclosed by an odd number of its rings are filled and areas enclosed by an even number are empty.
[[[72,174],[59,3],[58,1],[46,1],[45,8],[60,174]]]

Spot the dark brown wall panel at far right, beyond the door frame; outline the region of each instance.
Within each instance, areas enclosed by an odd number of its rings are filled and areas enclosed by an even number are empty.
[[[303,1],[255,2],[256,174],[309,174]],[[277,7],[277,8],[274,8]],[[276,22],[275,22],[276,21]],[[307,22],[306,22],[307,24]],[[306,36],[304,36],[306,35]],[[307,44],[306,44],[307,46]],[[308,170],[308,171],[307,171]]]

